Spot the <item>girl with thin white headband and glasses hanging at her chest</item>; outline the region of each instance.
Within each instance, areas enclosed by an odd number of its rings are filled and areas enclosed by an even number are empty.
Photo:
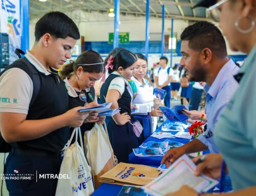
[[[104,62],[101,56],[92,50],[83,52],[75,61],[63,66],[59,72],[69,94],[69,108],[97,102],[94,84],[104,74]],[[105,117],[90,115],[81,126],[82,135],[93,128],[94,123],[102,123]],[[71,132],[72,133],[72,132]]]

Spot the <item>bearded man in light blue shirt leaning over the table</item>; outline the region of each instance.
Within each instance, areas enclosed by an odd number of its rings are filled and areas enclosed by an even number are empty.
[[[238,82],[233,78],[239,71],[234,62],[229,59],[226,45],[220,30],[211,23],[201,21],[188,26],[181,34],[181,66],[184,66],[189,81],[204,81],[206,92],[205,113],[207,130],[197,139],[187,144],[170,149],[162,163],[173,163],[183,154],[196,153],[209,149],[210,153],[218,153],[212,136],[224,106],[238,88]],[[184,114],[191,114],[185,110]],[[201,114],[198,118],[200,119]]]

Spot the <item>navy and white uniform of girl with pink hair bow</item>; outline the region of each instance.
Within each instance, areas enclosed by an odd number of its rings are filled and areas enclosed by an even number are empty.
[[[113,72],[106,79],[100,89],[100,102],[105,102],[104,97],[109,90],[117,90],[120,93],[120,98],[117,100],[120,107],[120,114],[127,113],[131,115],[132,92],[129,89],[131,86],[118,72]],[[133,122],[133,121],[132,121]],[[112,117],[106,117],[110,142],[119,162],[129,162],[129,154],[133,148],[139,145],[138,138],[134,134],[133,126],[130,123],[118,125]]]

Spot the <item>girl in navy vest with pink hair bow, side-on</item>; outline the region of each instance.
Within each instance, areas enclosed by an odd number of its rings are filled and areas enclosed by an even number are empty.
[[[112,51],[113,52],[113,51]],[[133,91],[127,79],[133,75],[137,57],[128,50],[122,49],[108,56],[106,70],[108,78],[100,89],[100,102],[112,102],[111,108],[119,108],[120,113],[106,117],[110,142],[118,162],[129,162],[129,154],[136,148],[138,138],[134,133],[131,120]]]

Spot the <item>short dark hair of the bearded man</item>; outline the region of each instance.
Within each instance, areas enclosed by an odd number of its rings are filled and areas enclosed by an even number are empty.
[[[226,42],[221,31],[212,23],[199,21],[184,29],[181,40],[188,40],[189,48],[201,51],[209,48],[219,58],[227,56]]]

